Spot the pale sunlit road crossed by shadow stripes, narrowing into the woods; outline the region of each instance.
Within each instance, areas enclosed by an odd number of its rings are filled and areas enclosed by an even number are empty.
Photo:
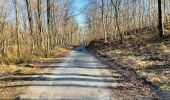
[[[33,75],[37,78],[28,88],[23,99],[38,100],[113,100],[112,91],[118,86],[119,74],[111,73],[108,66],[101,64],[84,47],[77,47],[60,59],[63,63],[49,65],[54,68],[52,74]],[[47,66],[48,67],[48,66]],[[113,72],[113,70],[112,70]]]

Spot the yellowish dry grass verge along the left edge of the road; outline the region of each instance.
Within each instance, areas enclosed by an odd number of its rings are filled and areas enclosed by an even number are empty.
[[[61,56],[68,53],[69,50],[59,48],[54,50],[54,52],[48,58],[39,58],[39,60],[34,60],[32,63],[22,63],[16,64],[0,64],[0,99],[13,99],[18,94],[24,93],[27,87],[30,86],[34,81],[23,81],[14,79],[24,78],[24,75],[32,75],[45,71],[50,71],[50,69],[42,69],[40,66],[48,66],[50,63],[60,63]]]

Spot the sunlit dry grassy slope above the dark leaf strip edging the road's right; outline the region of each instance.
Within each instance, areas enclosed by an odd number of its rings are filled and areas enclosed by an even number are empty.
[[[99,41],[93,50],[113,62],[135,69],[162,90],[170,91],[170,38],[159,39],[157,34],[147,32],[126,37],[124,44],[114,42],[102,46],[105,44]]]

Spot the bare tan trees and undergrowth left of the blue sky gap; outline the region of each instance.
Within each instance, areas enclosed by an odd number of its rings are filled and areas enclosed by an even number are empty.
[[[80,42],[72,0],[1,0],[0,56],[47,56]]]

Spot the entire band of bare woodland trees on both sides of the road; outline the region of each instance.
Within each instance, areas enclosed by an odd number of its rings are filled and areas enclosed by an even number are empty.
[[[75,20],[74,0],[1,0],[0,57],[47,56],[57,47],[119,39],[141,30],[163,36],[169,0],[88,0],[87,27]],[[156,32],[157,31],[157,32]]]

